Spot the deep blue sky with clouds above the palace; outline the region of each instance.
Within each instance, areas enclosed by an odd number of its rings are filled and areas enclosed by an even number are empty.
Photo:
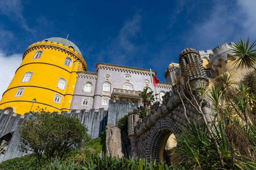
[[[1,1],[0,93],[30,44],[68,34],[90,72],[99,62],[151,68],[165,82],[164,71],[184,48],[254,40],[255,6],[255,0]]]

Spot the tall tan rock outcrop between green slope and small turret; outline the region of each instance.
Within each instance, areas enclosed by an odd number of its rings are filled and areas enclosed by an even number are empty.
[[[117,126],[106,126],[105,148],[107,156],[128,158],[131,148],[127,132]]]

